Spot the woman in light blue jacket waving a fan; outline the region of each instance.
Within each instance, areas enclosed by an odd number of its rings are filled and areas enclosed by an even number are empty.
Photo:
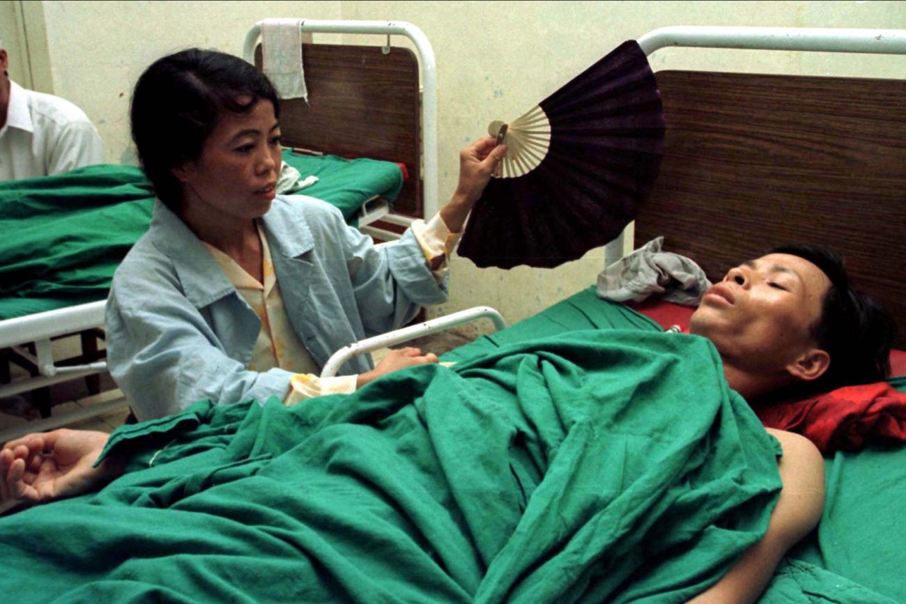
[[[439,216],[379,251],[333,206],[275,194],[279,110],[265,75],[224,53],[169,55],[136,84],[132,138],[159,201],[114,275],[106,329],[111,374],[140,420],[203,398],[295,404],[437,361],[404,349],[315,377],[335,350],[446,300],[451,234],[506,149],[465,149]]]

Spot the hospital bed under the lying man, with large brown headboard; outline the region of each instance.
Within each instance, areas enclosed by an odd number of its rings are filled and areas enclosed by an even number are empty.
[[[671,46],[906,54],[906,31],[666,27],[639,43],[649,55]],[[892,312],[895,346],[906,349],[906,80],[686,71],[656,76],[665,149],[651,198],[634,223],[635,244],[664,235],[667,251],[694,259],[712,281],[778,244],[839,250],[856,286]],[[623,236],[608,245],[608,258],[627,247]],[[688,312],[657,304],[642,311],[688,324]],[[461,362],[564,331],[667,327],[660,322],[602,302],[592,286],[442,360]],[[335,360],[376,344],[361,342]],[[901,350],[892,355],[891,384],[906,391]],[[334,365],[329,362],[325,372]],[[898,413],[906,418],[906,409]],[[876,421],[885,419],[891,417]],[[763,601],[815,601],[805,597],[810,592],[834,601],[906,602],[906,523],[899,513],[906,447],[877,438],[859,452],[826,453],[825,465],[822,522],[786,556]]]

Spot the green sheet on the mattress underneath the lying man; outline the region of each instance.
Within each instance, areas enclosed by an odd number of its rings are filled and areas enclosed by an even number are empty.
[[[452,350],[467,360],[535,336],[575,330],[661,331],[647,317],[598,298],[595,288],[557,302],[525,321]],[[906,378],[891,380],[906,392]],[[822,521],[776,571],[762,602],[901,602],[906,604],[906,447],[872,447],[824,460]]]

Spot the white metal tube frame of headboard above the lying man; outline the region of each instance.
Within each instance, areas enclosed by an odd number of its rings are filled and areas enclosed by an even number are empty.
[[[674,25],[651,30],[641,36],[638,42],[642,52],[647,56],[670,46],[813,53],[906,54],[906,30],[901,29]],[[612,264],[623,256],[625,235],[624,230],[604,247],[605,264]]]

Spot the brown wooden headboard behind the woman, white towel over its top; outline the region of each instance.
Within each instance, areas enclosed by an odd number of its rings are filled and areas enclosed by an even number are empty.
[[[405,164],[394,212],[421,216],[419,61],[408,48],[302,45],[308,104],[280,102],[284,147]],[[261,65],[261,45],[255,49]]]

